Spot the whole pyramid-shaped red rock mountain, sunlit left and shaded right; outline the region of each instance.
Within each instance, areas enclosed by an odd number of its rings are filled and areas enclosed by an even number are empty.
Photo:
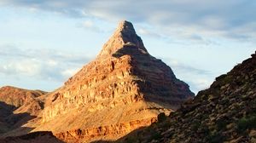
[[[122,21],[96,60],[45,97],[38,120],[25,126],[86,141],[118,139],[153,123],[160,112],[177,110],[194,94],[148,54],[131,22]]]

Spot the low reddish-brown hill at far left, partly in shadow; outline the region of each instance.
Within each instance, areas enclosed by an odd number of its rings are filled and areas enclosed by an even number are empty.
[[[20,129],[22,124],[37,117],[44,108],[43,101],[38,99],[43,94],[46,92],[41,90],[2,87],[0,89],[0,136],[9,134],[13,129]],[[15,134],[19,133],[16,131]]]

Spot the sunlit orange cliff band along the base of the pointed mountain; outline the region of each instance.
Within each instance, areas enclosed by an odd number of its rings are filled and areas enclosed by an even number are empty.
[[[57,133],[55,136],[65,142],[79,142],[80,140],[85,142],[97,140],[116,140],[134,129],[148,126],[155,121],[156,118],[148,118],[130,121],[128,123],[117,123],[113,125],[109,124],[93,129],[73,129],[63,133]]]

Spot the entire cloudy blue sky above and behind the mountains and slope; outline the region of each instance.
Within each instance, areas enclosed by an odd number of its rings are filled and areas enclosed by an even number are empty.
[[[0,86],[56,89],[131,21],[148,52],[197,93],[250,57],[256,1],[1,0]]]

